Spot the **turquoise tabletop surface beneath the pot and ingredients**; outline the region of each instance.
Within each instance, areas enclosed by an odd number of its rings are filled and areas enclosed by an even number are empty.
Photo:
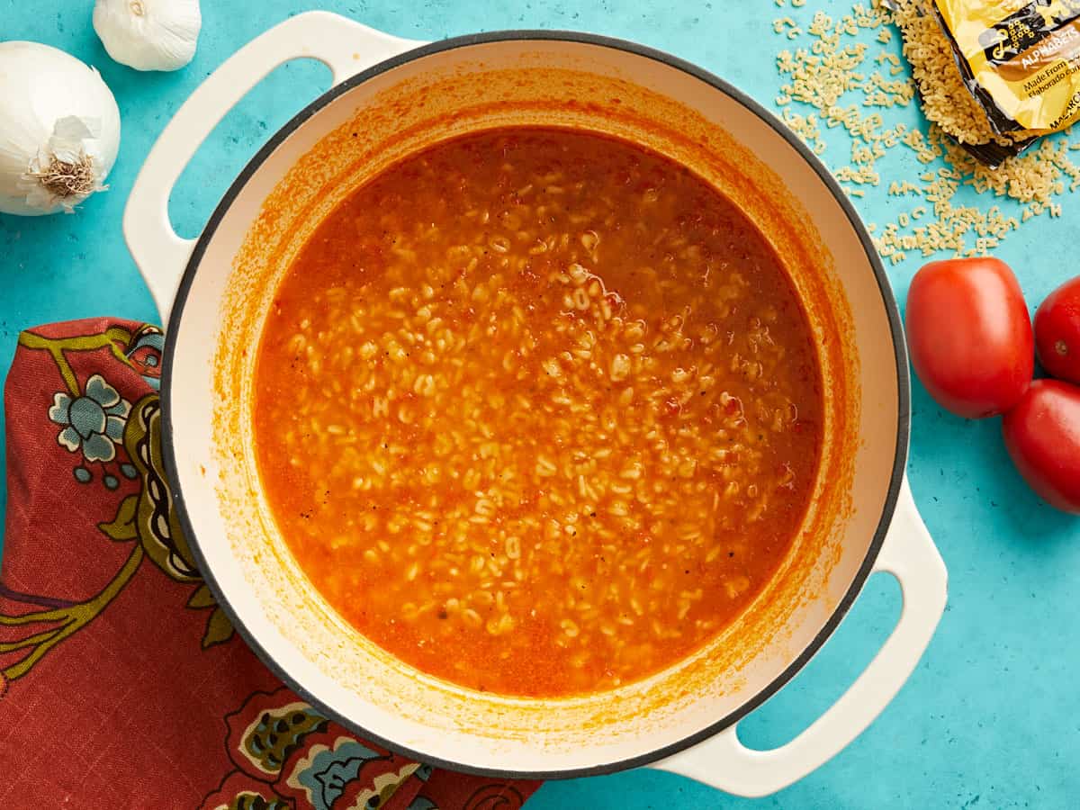
[[[112,87],[123,119],[108,192],[94,195],[72,216],[0,215],[0,368],[8,367],[16,335],[27,326],[103,314],[157,320],[120,230],[135,174],[158,133],[199,82],[243,43],[291,14],[329,9],[417,39],[513,27],[602,32],[677,54],[769,105],[781,83],[773,57],[791,44],[772,32],[771,21],[792,14],[808,22],[811,13],[780,11],[771,0],[634,5],[607,0],[213,0],[203,3],[194,62],[176,73],[147,75],[107,57],[91,27],[89,0],[0,0],[0,40],[45,42],[93,64]],[[809,5],[833,14],[850,10],[846,2],[810,0]],[[866,41],[872,39],[866,35]],[[177,230],[195,235],[258,146],[327,84],[328,71],[321,65],[295,62],[256,87],[217,127],[181,178],[171,202]],[[918,112],[904,110],[890,120],[916,125]],[[847,163],[848,146],[840,134],[832,131],[826,136],[826,161]],[[886,185],[924,171],[906,152],[890,154],[879,167]],[[970,190],[960,197],[975,199]],[[1025,225],[998,252],[1016,270],[1032,305],[1080,272],[1071,259],[1080,243],[1080,200],[1063,202],[1061,219]],[[856,204],[867,220],[883,224],[895,216],[899,208],[893,206],[900,202],[882,188]],[[985,208],[990,203],[981,204]],[[913,258],[889,268],[901,300],[919,264]],[[878,721],[818,772],[756,802],[638,770],[549,784],[529,807],[1076,807],[1080,522],[1054,512],[1028,491],[1002,449],[998,420],[967,422],[944,414],[918,383],[914,396],[908,470],[916,500],[949,569],[949,606],[924,659]],[[814,661],[743,721],[743,740],[765,747],[805,728],[874,654],[895,622],[899,605],[895,583],[872,578]]]

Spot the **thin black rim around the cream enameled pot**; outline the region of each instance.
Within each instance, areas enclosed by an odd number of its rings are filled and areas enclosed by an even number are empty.
[[[298,684],[296,684],[285,669],[279,664],[262,646],[259,644],[258,639],[255,638],[252,633],[247,631],[244,624],[239,620],[232,606],[229,604],[227,594],[221,589],[220,584],[214,577],[214,571],[207,566],[206,558],[202,552],[202,548],[199,542],[198,535],[193,530],[193,526],[188,514],[183,491],[179,487],[179,475],[178,468],[176,463],[175,445],[174,445],[174,430],[173,430],[173,392],[172,392],[172,368],[173,359],[176,350],[176,342],[172,339],[172,335],[175,334],[176,328],[180,324],[180,320],[184,315],[185,305],[188,300],[188,294],[191,289],[191,284],[194,279],[195,272],[198,270],[199,264],[202,259],[203,254],[206,251],[206,246],[213,239],[214,233],[217,230],[225,213],[228,211],[229,206],[232,204],[233,200],[240,193],[241,189],[246,185],[247,180],[258,171],[261,164],[294,131],[296,131],[301,124],[303,124],[308,119],[319,112],[323,107],[328,105],[330,102],[336,99],[338,96],[348,93],[353,87],[366,82],[367,80],[392,70],[406,63],[436,54],[444,51],[451,51],[459,48],[469,48],[472,45],[487,44],[492,42],[507,42],[507,41],[527,41],[527,40],[540,40],[540,41],[562,41],[570,42],[576,44],[586,44],[595,45],[600,48],[615,49],[618,51],[627,52],[637,56],[643,56],[656,62],[660,62],[669,67],[676,68],[685,73],[688,73],[706,84],[712,85],[716,90],[727,94],[737,102],[739,102],[743,107],[754,112],[762,122],[772,127],[779,135],[781,135],[799,154],[802,159],[814,170],[819,175],[821,180],[829,189],[833,197],[836,199],[837,203],[840,205],[841,210],[848,217],[851,227],[859,234],[859,239],[862,242],[863,249],[866,253],[866,258],[868,259],[870,267],[874,270],[874,274],[877,279],[878,288],[881,293],[881,300],[885,306],[888,319],[889,328],[892,335],[894,356],[896,362],[896,378],[897,378],[897,408],[896,408],[896,448],[895,456],[893,460],[892,473],[889,481],[889,490],[886,498],[885,505],[881,510],[881,518],[878,522],[877,528],[874,532],[873,541],[870,542],[869,549],[866,553],[862,565],[856,572],[854,580],[849,586],[843,598],[840,599],[839,604],[834,609],[828,621],[822,626],[822,629],[814,636],[813,640],[802,650],[802,652],[793,661],[780,675],[778,675],[767,687],[754,694],[746,702],[744,702],[738,710],[731,712],[724,717],[718,718],[714,723],[710,724],[706,728],[697,731],[692,734],[688,734],[681,740],[657,747],[647,754],[640,754],[633,757],[627,757],[624,759],[617,759],[611,762],[605,762],[603,765],[583,767],[583,768],[572,768],[558,771],[514,771],[505,770],[499,768],[481,768],[469,762],[460,762],[451,759],[431,757],[423,752],[413,751],[408,747],[402,746],[393,740],[384,739],[378,734],[372,733],[369,730],[363,728],[355,720],[342,716],[340,713],[333,711],[330,707],[322,703],[315,696],[309,693]],[[233,626],[252,648],[252,650],[261,659],[261,661],[267,665],[267,667],[281,680],[292,688],[297,694],[299,694],[303,700],[311,703],[314,707],[319,708],[323,714],[329,719],[339,723],[343,727],[352,730],[353,732],[368,739],[376,744],[382,745],[391,751],[395,751],[405,756],[417,759],[418,761],[427,762],[434,767],[446,768],[449,770],[461,771],[464,773],[471,773],[483,777],[494,777],[500,779],[537,779],[537,780],[550,780],[550,779],[571,779],[579,777],[591,777],[605,773],[613,773],[617,771],[626,770],[630,768],[635,768],[638,766],[649,765],[650,762],[656,762],[665,757],[672,756],[685,748],[689,748],[703,740],[706,740],[714,734],[723,731],[726,728],[731,727],[740,719],[745,717],[752,711],[760,706],[765,701],[775,694],[777,691],[781,689],[795,674],[801,670],[818,650],[822,647],[825,640],[833,634],[836,627],[840,624],[840,621],[847,615],[855,597],[859,595],[869,576],[874,563],[877,559],[878,553],[881,550],[881,545],[885,542],[886,532],[888,531],[889,525],[892,522],[892,515],[896,507],[896,501],[900,497],[901,484],[903,482],[904,469],[907,461],[907,445],[908,436],[910,431],[910,380],[907,375],[907,350],[904,341],[903,329],[901,327],[900,310],[896,306],[896,301],[892,295],[892,288],[889,284],[889,279],[886,274],[885,268],[881,265],[881,260],[878,257],[877,251],[874,247],[873,241],[870,240],[869,233],[862,224],[859,214],[855,212],[854,206],[848,199],[848,195],[840,188],[839,184],[829,173],[829,171],[822,164],[816,156],[811,152],[809,148],[796,136],[791,130],[788,130],[777,117],[771,112],[766,110],[760,104],[755,102],[748,95],[742,91],[735,89],[725,80],[719,77],[703,70],[702,68],[680,59],[671,54],[658,51],[646,45],[640,45],[635,42],[630,42],[627,40],[615,39],[610,37],[604,37],[595,33],[584,33],[579,31],[565,31],[565,30],[529,30],[529,29],[515,29],[515,30],[504,30],[504,31],[489,31],[484,33],[471,33],[461,37],[454,37],[450,39],[443,40],[441,42],[433,42],[431,44],[422,45],[416,48],[411,51],[407,51],[397,56],[393,56],[384,62],[381,62],[366,70],[361,71],[356,76],[353,76],[340,84],[330,87],[324,94],[322,94],[314,102],[305,107],[300,112],[293,117],[281,130],[279,130],[261,149],[256,152],[256,154],[248,161],[244,170],[237,176],[237,179],[226,191],[221,201],[218,203],[217,207],[214,210],[213,215],[206,224],[205,229],[200,235],[194,249],[191,254],[191,258],[188,260],[187,267],[184,271],[184,275],[180,280],[179,287],[176,293],[175,302],[172,309],[172,314],[170,316],[170,328],[166,330],[165,338],[165,351],[164,359],[162,363],[162,376],[161,376],[161,400],[163,409],[163,430],[162,430],[162,444],[163,444],[163,456],[164,465],[168,480],[173,482],[173,502],[177,509],[178,516],[180,519],[180,525],[184,527],[187,534],[188,542],[191,546],[192,554],[199,565],[200,570],[203,572],[203,577],[207,585],[213,591],[215,597],[218,600],[221,609],[226,612],[229,620],[232,622]],[[180,397],[181,399],[181,397]]]

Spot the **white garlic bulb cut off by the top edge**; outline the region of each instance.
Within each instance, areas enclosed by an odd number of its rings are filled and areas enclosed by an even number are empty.
[[[97,0],[94,30],[109,56],[136,70],[177,70],[195,55],[199,0]]]

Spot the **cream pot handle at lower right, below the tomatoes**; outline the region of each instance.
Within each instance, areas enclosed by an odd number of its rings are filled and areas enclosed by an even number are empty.
[[[768,796],[820,768],[859,737],[910,676],[945,610],[945,564],[906,477],[874,571],[888,571],[900,582],[900,621],[855,683],[802,733],[779,748],[754,751],[739,741],[734,725],[650,767],[740,796]]]

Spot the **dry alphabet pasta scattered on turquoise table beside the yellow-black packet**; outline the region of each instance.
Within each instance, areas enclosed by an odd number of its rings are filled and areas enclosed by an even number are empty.
[[[781,30],[805,28],[806,33],[795,38],[794,51],[777,55],[785,83],[775,104],[785,123],[823,156],[822,127],[847,134],[849,162],[828,162],[849,194],[862,197],[868,187],[880,186],[878,162],[896,150],[914,153],[927,166],[917,177],[890,184],[888,193],[912,206],[872,230],[881,256],[899,264],[940,252],[984,255],[1031,217],[1061,216],[1056,198],[1080,186],[1080,166],[1069,158],[1068,141],[1043,138],[997,168],[980,163],[961,143],[1008,139],[994,135],[961,82],[944,33],[932,15],[922,13],[920,0],[894,0],[894,5],[860,3],[839,19],[818,11],[809,24],[785,17]],[[891,26],[903,32],[910,78]],[[870,41],[864,31],[877,33]],[[918,100],[929,119],[923,127],[910,129],[897,120],[900,114],[890,114]],[[976,192],[975,204],[959,204],[961,186]],[[983,197],[989,199],[978,199]]]

